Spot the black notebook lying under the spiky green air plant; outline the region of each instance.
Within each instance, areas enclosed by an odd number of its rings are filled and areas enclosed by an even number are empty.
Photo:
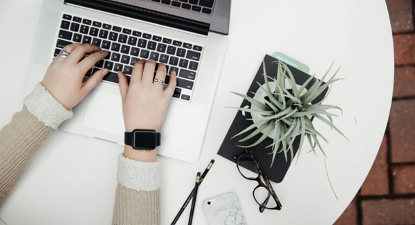
[[[266,73],[267,73],[268,77],[276,77],[277,76],[278,64],[273,63],[273,61],[277,61],[277,59],[271,57],[270,55],[266,55],[264,57],[264,62],[265,62],[265,66],[266,66]],[[291,72],[293,73],[295,83],[297,83],[300,86],[302,84],[304,84],[304,82],[308,78],[311,77],[310,75],[306,74],[305,72],[302,72],[301,70],[293,68],[292,66],[288,66],[288,68],[290,68]],[[268,81],[269,81],[269,79],[268,79]],[[257,92],[257,90],[259,88],[259,85],[257,84],[257,82],[259,84],[264,84],[265,83],[262,63],[259,65],[257,75],[255,75],[254,80],[252,81],[252,84],[250,85],[250,88],[248,89],[247,95],[249,97],[254,97],[254,93]],[[306,88],[307,89],[311,88],[311,86],[313,84],[314,84],[314,81],[311,81],[306,86]],[[322,94],[320,94],[317,98],[315,98],[311,103],[315,104],[315,103],[321,101],[324,98],[324,95],[326,95],[328,90],[329,90],[329,88],[326,88],[326,90],[324,90],[322,92]],[[246,99],[243,99],[242,104],[241,104],[241,108],[246,107],[246,106],[249,106],[249,108],[250,108],[251,104]],[[252,137],[250,140],[244,141],[244,142],[239,142],[239,139],[242,139],[243,137],[246,137],[246,135],[248,135],[250,132],[245,133],[245,134],[240,135],[240,136],[237,136],[237,137],[234,137],[233,139],[230,139],[234,135],[237,135],[237,133],[241,132],[243,129],[245,129],[248,126],[252,125],[252,121],[247,120],[247,119],[252,119],[250,113],[244,113],[244,114],[245,115],[243,115],[242,112],[240,110],[238,110],[237,115],[234,118],[234,121],[232,122],[232,125],[230,126],[230,129],[228,130],[228,133],[226,134],[225,138],[223,139],[223,142],[221,144],[221,148],[219,148],[219,152],[218,152],[219,155],[221,155],[222,157],[225,157],[226,159],[229,159],[230,161],[232,161],[234,163],[237,162],[237,159],[234,159],[234,155],[239,156],[239,155],[241,155],[241,153],[244,152],[244,149],[237,147],[237,145],[238,146],[248,146],[250,144],[253,144],[255,141],[257,141],[257,139],[259,139],[259,137],[261,137],[261,135],[262,135],[261,133],[259,133],[255,137]],[[295,138],[294,143],[293,143],[294,155],[295,155],[295,153],[297,153],[297,150],[298,150],[298,147],[299,147],[299,139],[300,139],[300,136],[297,136]],[[272,142],[273,142],[273,139],[271,139],[270,137],[266,137],[266,139],[264,139],[264,141],[262,141],[260,144],[258,144],[257,146],[254,146],[250,149],[252,150],[252,153],[253,153],[255,159],[257,159],[257,161],[261,164],[262,168],[264,168],[265,173],[268,176],[268,179],[272,180],[273,182],[279,183],[279,182],[282,182],[282,180],[284,179],[284,177],[285,177],[285,175],[288,171],[288,168],[291,164],[291,155],[290,155],[291,153],[287,154],[288,162],[286,161],[286,159],[284,157],[284,153],[278,153],[275,156],[273,167],[270,167],[273,151],[272,151],[272,148],[265,148],[265,147],[270,145]],[[271,153],[271,155],[269,155],[269,153]],[[255,165],[254,164],[249,164],[249,165],[252,166],[252,167],[247,166],[247,165],[241,165],[241,166],[247,168],[248,170],[255,171]]]

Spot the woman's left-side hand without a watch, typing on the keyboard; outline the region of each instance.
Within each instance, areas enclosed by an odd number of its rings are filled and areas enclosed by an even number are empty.
[[[97,46],[80,43],[72,43],[65,49],[70,55],[53,59],[42,85],[64,108],[71,110],[107,75],[108,70],[102,69],[83,81],[86,72],[107,56],[108,52]],[[89,52],[93,53],[84,59],[84,55]]]

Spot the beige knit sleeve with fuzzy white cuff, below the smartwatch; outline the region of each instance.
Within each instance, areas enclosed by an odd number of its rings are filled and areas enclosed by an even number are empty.
[[[118,157],[113,224],[160,224],[160,166]]]

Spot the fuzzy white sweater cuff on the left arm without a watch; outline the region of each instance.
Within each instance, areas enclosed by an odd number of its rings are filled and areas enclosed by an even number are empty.
[[[59,104],[40,82],[36,84],[30,95],[23,99],[23,104],[45,126],[55,130],[63,121],[73,116],[72,110],[66,110]]]

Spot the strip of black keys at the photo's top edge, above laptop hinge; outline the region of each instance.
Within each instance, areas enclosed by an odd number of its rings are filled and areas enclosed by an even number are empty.
[[[143,0],[160,3],[174,8],[182,8],[202,14],[212,14],[214,0]]]

